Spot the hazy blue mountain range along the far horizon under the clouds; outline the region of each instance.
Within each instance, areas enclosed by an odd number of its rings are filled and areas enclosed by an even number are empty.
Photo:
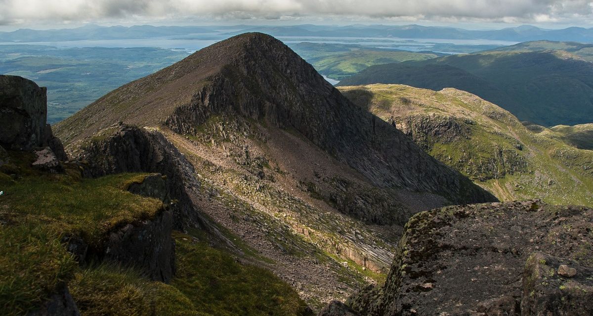
[[[104,40],[125,38],[151,38],[160,36],[182,36],[189,34],[218,33],[222,37],[258,31],[272,36],[318,36],[318,37],[396,37],[396,38],[438,38],[451,40],[502,40],[502,41],[579,41],[593,43],[593,29],[569,27],[562,30],[546,30],[532,25],[509,27],[501,30],[464,30],[453,27],[426,27],[422,25],[231,25],[207,27],[155,27],[135,25],[132,27],[85,25],[79,28],[61,30],[21,29],[0,33],[0,41],[71,41]]]

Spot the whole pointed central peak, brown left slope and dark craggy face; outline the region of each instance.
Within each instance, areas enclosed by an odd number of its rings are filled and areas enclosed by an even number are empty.
[[[56,131],[73,145],[118,121],[196,136],[218,115],[292,130],[381,188],[426,192],[455,204],[494,199],[356,107],[289,47],[261,33],[221,41],[122,86],[60,122]]]

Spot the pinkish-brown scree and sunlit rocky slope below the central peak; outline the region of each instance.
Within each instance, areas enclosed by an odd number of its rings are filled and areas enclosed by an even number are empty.
[[[196,168],[201,186],[189,190],[196,207],[234,236],[230,238],[245,255],[241,257],[273,270],[312,308],[332,299],[344,301],[366,283],[382,282],[401,226],[365,224],[299,186],[308,177],[336,175],[363,182],[356,172],[286,131],[267,134],[266,146],[240,137],[247,156],[265,159],[270,166],[260,177],[248,171],[250,164],[233,159],[238,148],[232,143],[161,132]],[[307,156],[297,161],[291,150]]]

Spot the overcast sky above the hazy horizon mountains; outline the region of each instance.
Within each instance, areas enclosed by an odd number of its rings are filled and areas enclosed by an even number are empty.
[[[593,27],[593,0],[0,0],[4,30],[87,22]]]

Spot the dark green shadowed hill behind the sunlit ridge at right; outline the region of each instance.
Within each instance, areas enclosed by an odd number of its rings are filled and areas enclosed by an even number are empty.
[[[566,51],[484,51],[377,65],[339,85],[371,83],[464,89],[540,125],[593,121],[593,63]]]

